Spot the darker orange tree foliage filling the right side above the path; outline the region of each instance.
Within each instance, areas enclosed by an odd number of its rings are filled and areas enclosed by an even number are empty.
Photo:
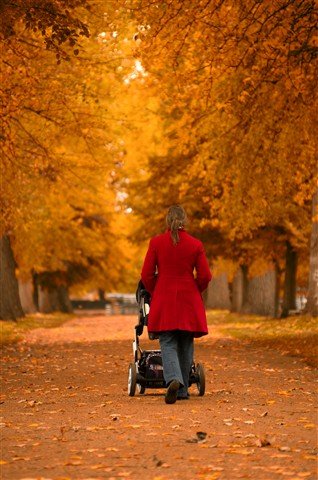
[[[139,54],[171,146],[169,158],[149,159],[151,208],[175,199],[196,205],[199,225],[220,232],[239,262],[259,254],[257,239],[275,262],[286,250],[288,311],[291,259],[308,252],[315,189],[314,2],[129,5],[146,26]]]

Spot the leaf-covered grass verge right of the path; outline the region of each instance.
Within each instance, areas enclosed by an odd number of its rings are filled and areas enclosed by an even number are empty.
[[[208,312],[208,323],[211,330],[222,335],[300,356],[310,365],[318,366],[317,318],[297,315],[273,319],[213,310]]]

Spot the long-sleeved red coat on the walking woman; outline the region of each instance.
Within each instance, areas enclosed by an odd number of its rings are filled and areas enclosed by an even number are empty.
[[[151,294],[148,331],[186,330],[200,337],[208,333],[201,292],[212,275],[202,242],[185,230],[179,231],[179,237],[180,242],[173,245],[168,230],[149,243],[141,272]]]

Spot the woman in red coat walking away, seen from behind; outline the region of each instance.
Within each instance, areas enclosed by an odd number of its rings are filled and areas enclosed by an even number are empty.
[[[175,403],[189,396],[193,338],[208,333],[201,292],[212,276],[202,243],[184,229],[184,209],[173,205],[166,221],[168,230],[150,240],[141,279],[151,294],[148,332],[160,342],[165,402]]]

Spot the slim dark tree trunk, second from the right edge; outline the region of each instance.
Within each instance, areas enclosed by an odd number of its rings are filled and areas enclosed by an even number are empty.
[[[286,242],[285,261],[285,284],[282,318],[289,315],[290,310],[296,310],[296,274],[297,274],[297,252],[290,242]]]

